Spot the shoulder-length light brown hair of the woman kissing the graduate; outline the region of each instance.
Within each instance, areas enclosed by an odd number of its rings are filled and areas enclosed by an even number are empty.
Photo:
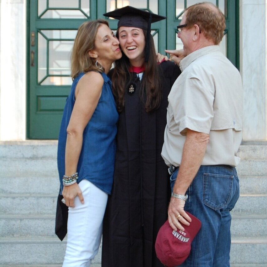
[[[97,30],[100,25],[108,22],[104,19],[87,21],[78,29],[71,53],[72,80],[81,72],[103,71],[96,67],[96,59],[89,56],[89,51],[95,48]]]

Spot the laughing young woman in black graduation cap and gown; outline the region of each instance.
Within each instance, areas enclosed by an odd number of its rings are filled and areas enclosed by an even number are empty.
[[[116,36],[123,56],[109,73],[119,121],[102,267],[163,266],[154,245],[168,217],[170,181],[160,153],[167,97],[181,71],[170,61],[157,64],[150,25],[165,17],[130,6],[104,16],[119,19]]]

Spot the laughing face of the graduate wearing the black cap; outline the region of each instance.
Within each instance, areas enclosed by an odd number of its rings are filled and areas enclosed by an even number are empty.
[[[120,27],[118,37],[123,53],[128,57],[131,65],[140,67],[144,64],[145,36],[140,28]]]

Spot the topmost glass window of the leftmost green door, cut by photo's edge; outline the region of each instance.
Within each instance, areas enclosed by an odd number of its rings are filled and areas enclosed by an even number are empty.
[[[38,16],[41,18],[89,18],[90,0],[38,0]]]

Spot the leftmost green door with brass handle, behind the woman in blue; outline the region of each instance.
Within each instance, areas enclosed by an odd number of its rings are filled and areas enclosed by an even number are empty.
[[[28,138],[56,139],[70,91],[70,55],[77,28],[96,18],[95,1],[30,0]],[[90,6],[91,4],[91,6]]]

